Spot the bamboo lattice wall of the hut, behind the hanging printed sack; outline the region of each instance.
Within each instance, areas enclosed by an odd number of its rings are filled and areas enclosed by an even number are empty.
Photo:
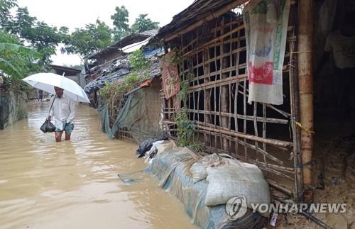
[[[302,173],[297,168],[300,144],[296,133],[294,16],[293,10],[288,27],[282,106],[247,103],[244,23],[241,16],[230,12],[171,42],[183,58],[181,80],[190,84],[189,98],[185,105],[177,96],[163,99],[163,128],[175,135],[173,113],[185,106],[197,126],[194,140],[203,143],[205,152],[224,152],[256,164],[271,186],[297,198],[302,191]]]

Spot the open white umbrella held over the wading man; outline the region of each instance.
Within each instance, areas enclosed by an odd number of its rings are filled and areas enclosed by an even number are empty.
[[[74,101],[84,103],[90,102],[87,98],[87,94],[81,86],[79,86],[72,79],[60,76],[59,74],[38,73],[26,77],[22,80],[31,86],[43,91],[47,91],[50,94],[55,94],[54,86],[58,86],[64,89],[65,96],[69,96],[70,98],[74,99]]]

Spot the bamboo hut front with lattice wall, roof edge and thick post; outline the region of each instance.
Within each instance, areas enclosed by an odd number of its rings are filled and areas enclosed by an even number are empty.
[[[160,28],[166,53],[178,50],[178,94],[163,98],[163,129],[187,109],[194,141],[258,165],[270,186],[297,201],[312,199],[312,1],[291,1],[283,62],[283,104],[248,103],[245,0],[197,0]],[[164,80],[164,79],[163,79]],[[181,88],[182,90],[182,88]],[[163,92],[163,91],[162,91]]]

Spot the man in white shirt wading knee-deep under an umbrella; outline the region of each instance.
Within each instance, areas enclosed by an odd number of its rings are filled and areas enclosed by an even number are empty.
[[[65,131],[65,140],[70,140],[70,134],[74,128],[72,121],[75,116],[75,104],[74,101],[63,94],[63,89],[55,86],[55,96],[50,99],[50,104],[53,103],[53,107],[50,109],[50,115],[48,120],[50,121],[53,117],[55,129],[55,140],[58,142],[62,141],[62,133]]]

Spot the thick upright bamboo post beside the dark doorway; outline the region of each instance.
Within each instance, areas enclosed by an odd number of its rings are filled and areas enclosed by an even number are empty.
[[[313,0],[298,1],[298,82],[300,90],[301,152],[304,201],[313,199]],[[307,163],[307,165],[305,165]]]

